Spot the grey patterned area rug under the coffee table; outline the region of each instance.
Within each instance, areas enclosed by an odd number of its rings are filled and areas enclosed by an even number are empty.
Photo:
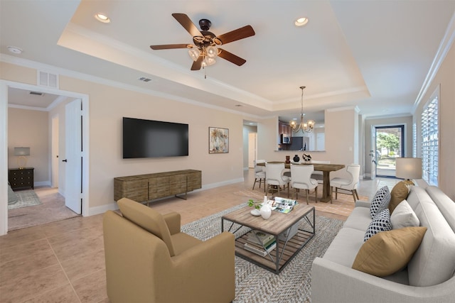
[[[181,229],[205,241],[220,233],[220,218],[223,214],[246,206],[234,206],[186,224]],[[315,236],[279,275],[236,256],[234,302],[311,302],[311,263],[326,252],[343,223],[341,220],[316,216]],[[305,224],[306,221],[301,221],[301,227],[309,228]]]

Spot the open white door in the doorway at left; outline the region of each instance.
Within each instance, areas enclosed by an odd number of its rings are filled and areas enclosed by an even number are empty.
[[[82,100],[65,106],[65,205],[82,211]]]

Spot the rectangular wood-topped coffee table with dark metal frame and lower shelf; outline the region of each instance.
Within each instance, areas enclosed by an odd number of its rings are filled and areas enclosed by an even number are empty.
[[[240,232],[240,235],[236,236],[235,239],[235,255],[279,274],[305,244],[313,238],[316,231],[314,206],[297,204],[287,214],[272,211],[272,216],[267,220],[262,219],[262,216],[253,216],[250,213],[251,210],[251,207],[244,207],[222,216],[221,231],[225,230],[226,224],[227,231],[236,235]],[[306,221],[309,231],[299,226],[301,220]],[[298,229],[291,232],[297,226],[299,226]],[[272,235],[277,243],[276,247],[269,252],[264,249],[264,256],[245,249],[250,231]],[[295,235],[289,237],[293,233]]]

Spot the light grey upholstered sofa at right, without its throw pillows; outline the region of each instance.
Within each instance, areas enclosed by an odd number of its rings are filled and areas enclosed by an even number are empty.
[[[455,302],[455,203],[437,187],[407,196],[427,227],[407,267],[387,277],[352,268],[370,222],[370,202],[358,201],[323,258],[311,270],[311,302]]]

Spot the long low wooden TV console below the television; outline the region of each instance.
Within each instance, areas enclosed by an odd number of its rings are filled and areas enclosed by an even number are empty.
[[[137,202],[185,194],[201,188],[200,170],[176,170],[114,178],[114,200],[129,198]]]

